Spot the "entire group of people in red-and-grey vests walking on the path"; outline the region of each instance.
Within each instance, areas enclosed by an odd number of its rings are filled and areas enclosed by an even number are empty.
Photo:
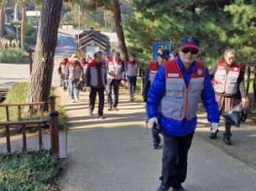
[[[152,128],[153,146],[162,146],[160,134],[164,137],[161,185],[157,191],[186,191],[182,186],[187,176],[188,152],[197,128],[198,104],[207,112],[211,124],[210,139],[216,139],[222,111],[230,111],[239,103],[248,105],[244,88],[243,71],[236,62],[236,50],[228,48],[224,59],[209,71],[201,63],[200,40],[194,36],[180,41],[178,53],[170,57],[168,50],[158,54],[158,60],[151,62],[145,70],[143,100]],[[124,76],[128,80],[129,100],[134,101],[136,77],[139,63],[134,54],[127,63],[115,51],[110,58],[104,58],[101,51],[94,53],[90,62],[83,63],[73,55],[59,64],[61,85],[68,89],[72,101],[79,100],[79,82],[84,81],[90,91],[89,114],[94,111],[98,94],[98,117],[104,118],[104,94],[107,95],[108,111],[118,111],[119,90]],[[124,75],[125,74],[125,75]],[[223,141],[232,144],[232,123],[225,119]]]

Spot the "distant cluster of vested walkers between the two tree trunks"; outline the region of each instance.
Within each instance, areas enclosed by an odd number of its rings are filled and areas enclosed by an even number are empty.
[[[80,89],[90,91],[89,114],[93,114],[96,94],[98,94],[98,117],[103,119],[104,94],[107,96],[108,111],[118,111],[120,85],[122,80],[128,79],[129,100],[134,101],[136,90],[136,78],[139,63],[135,54],[129,56],[125,63],[121,59],[119,51],[115,51],[113,56],[104,57],[101,51],[94,53],[91,61],[86,59],[80,63],[76,54],[68,60],[64,57],[59,63],[58,74],[60,86],[67,89],[72,102],[79,101]]]

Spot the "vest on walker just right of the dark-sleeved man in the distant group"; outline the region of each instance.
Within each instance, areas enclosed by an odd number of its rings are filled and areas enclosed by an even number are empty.
[[[122,79],[122,69],[124,61],[119,59],[118,62],[114,62],[112,58],[108,61],[108,79],[121,80]]]

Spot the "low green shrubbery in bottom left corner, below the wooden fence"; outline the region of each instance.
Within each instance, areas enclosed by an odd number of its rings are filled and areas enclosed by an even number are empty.
[[[0,155],[1,191],[55,191],[60,162],[48,150]]]

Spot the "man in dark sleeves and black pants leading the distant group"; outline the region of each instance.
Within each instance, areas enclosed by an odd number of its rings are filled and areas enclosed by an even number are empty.
[[[106,64],[103,61],[101,51],[93,55],[93,60],[89,63],[87,70],[87,87],[90,91],[89,114],[93,114],[96,94],[98,93],[98,117],[103,119],[104,110],[104,90],[106,84]]]

